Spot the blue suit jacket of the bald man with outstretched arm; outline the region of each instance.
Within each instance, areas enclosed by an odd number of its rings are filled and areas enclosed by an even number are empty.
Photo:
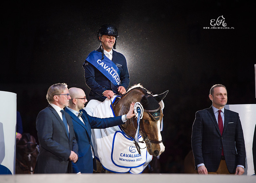
[[[117,126],[123,124],[122,117],[117,116],[113,118],[96,118],[88,115],[85,110],[80,110],[83,112],[82,119],[85,124],[72,113],[68,108],[65,111],[71,116],[75,137],[78,144],[78,160],[73,163],[73,173],[92,173],[93,168],[96,170],[95,161],[92,159],[91,152],[91,129],[94,128],[108,128],[112,126]],[[94,158],[95,159],[95,158]]]

